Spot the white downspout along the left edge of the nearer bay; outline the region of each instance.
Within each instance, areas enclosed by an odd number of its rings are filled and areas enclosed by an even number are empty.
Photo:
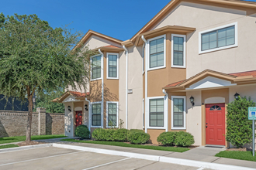
[[[144,55],[144,70],[145,70],[145,132],[147,133],[147,40],[144,36],[141,36],[141,39],[145,43],[145,55]]]

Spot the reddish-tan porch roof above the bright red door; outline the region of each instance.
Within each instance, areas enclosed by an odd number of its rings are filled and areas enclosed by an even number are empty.
[[[231,83],[247,84],[247,83],[256,83],[256,70],[240,72],[240,73],[221,73],[213,70],[204,70],[195,76],[190,77],[187,80],[181,80],[175,83],[170,83],[166,85],[163,89],[165,90],[185,90],[186,87],[189,87],[193,83],[198,82],[206,78],[207,76],[213,76],[222,80],[229,80]]]

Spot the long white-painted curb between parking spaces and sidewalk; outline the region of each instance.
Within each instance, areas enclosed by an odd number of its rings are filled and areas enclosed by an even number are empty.
[[[140,159],[146,159],[146,160],[155,161],[155,162],[165,162],[165,163],[171,163],[171,164],[193,166],[197,168],[212,168],[212,169],[220,169],[220,170],[221,169],[240,170],[241,168],[243,168],[244,170],[253,170],[253,169],[255,170],[255,168],[247,168],[242,166],[223,165],[223,164],[217,164],[217,163],[211,163],[211,162],[199,162],[199,161],[193,161],[188,159],[170,158],[170,157],[157,156],[157,155],[144,155],[144,154],[137,154],[133,152],[113,151],[113,150],[102,149],[102,148],[88,148],[88,147],[82,147],[82,146],[64,145],[64,144],[56,144],[56,143],[54,143],[52,146],[57,148],[74,149],[78,151],[90,151],[90,152],[106,154],[106,155],[119,155],[119,156],[125,156],[130,158],[140,158]]]

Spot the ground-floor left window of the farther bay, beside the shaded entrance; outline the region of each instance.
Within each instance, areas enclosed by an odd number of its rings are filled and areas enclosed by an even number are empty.
[[[92,102],[92,128],[102,127],[102,102]]]

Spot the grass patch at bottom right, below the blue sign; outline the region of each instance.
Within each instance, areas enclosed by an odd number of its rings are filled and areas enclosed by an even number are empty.
[[[252,151],[220,151],[215,156],[256,162],[256,156],[252,156]]]

